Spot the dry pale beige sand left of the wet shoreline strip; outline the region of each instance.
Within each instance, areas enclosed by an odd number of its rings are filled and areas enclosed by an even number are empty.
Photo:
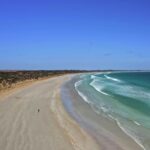
[[[60,85],[68,78],[40,81],[0,97],[0,150],[100,149],[62,106]]]

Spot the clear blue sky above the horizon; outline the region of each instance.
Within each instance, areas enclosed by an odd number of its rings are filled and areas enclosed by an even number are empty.
[[[1,0],[0,69],[150,69],[149,0]]]

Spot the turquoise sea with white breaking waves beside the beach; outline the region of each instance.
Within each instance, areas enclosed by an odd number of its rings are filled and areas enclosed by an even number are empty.
[[[150,72],[82,75],[75,87],[96,113],[115,120],[143,149],[150,149]]]

